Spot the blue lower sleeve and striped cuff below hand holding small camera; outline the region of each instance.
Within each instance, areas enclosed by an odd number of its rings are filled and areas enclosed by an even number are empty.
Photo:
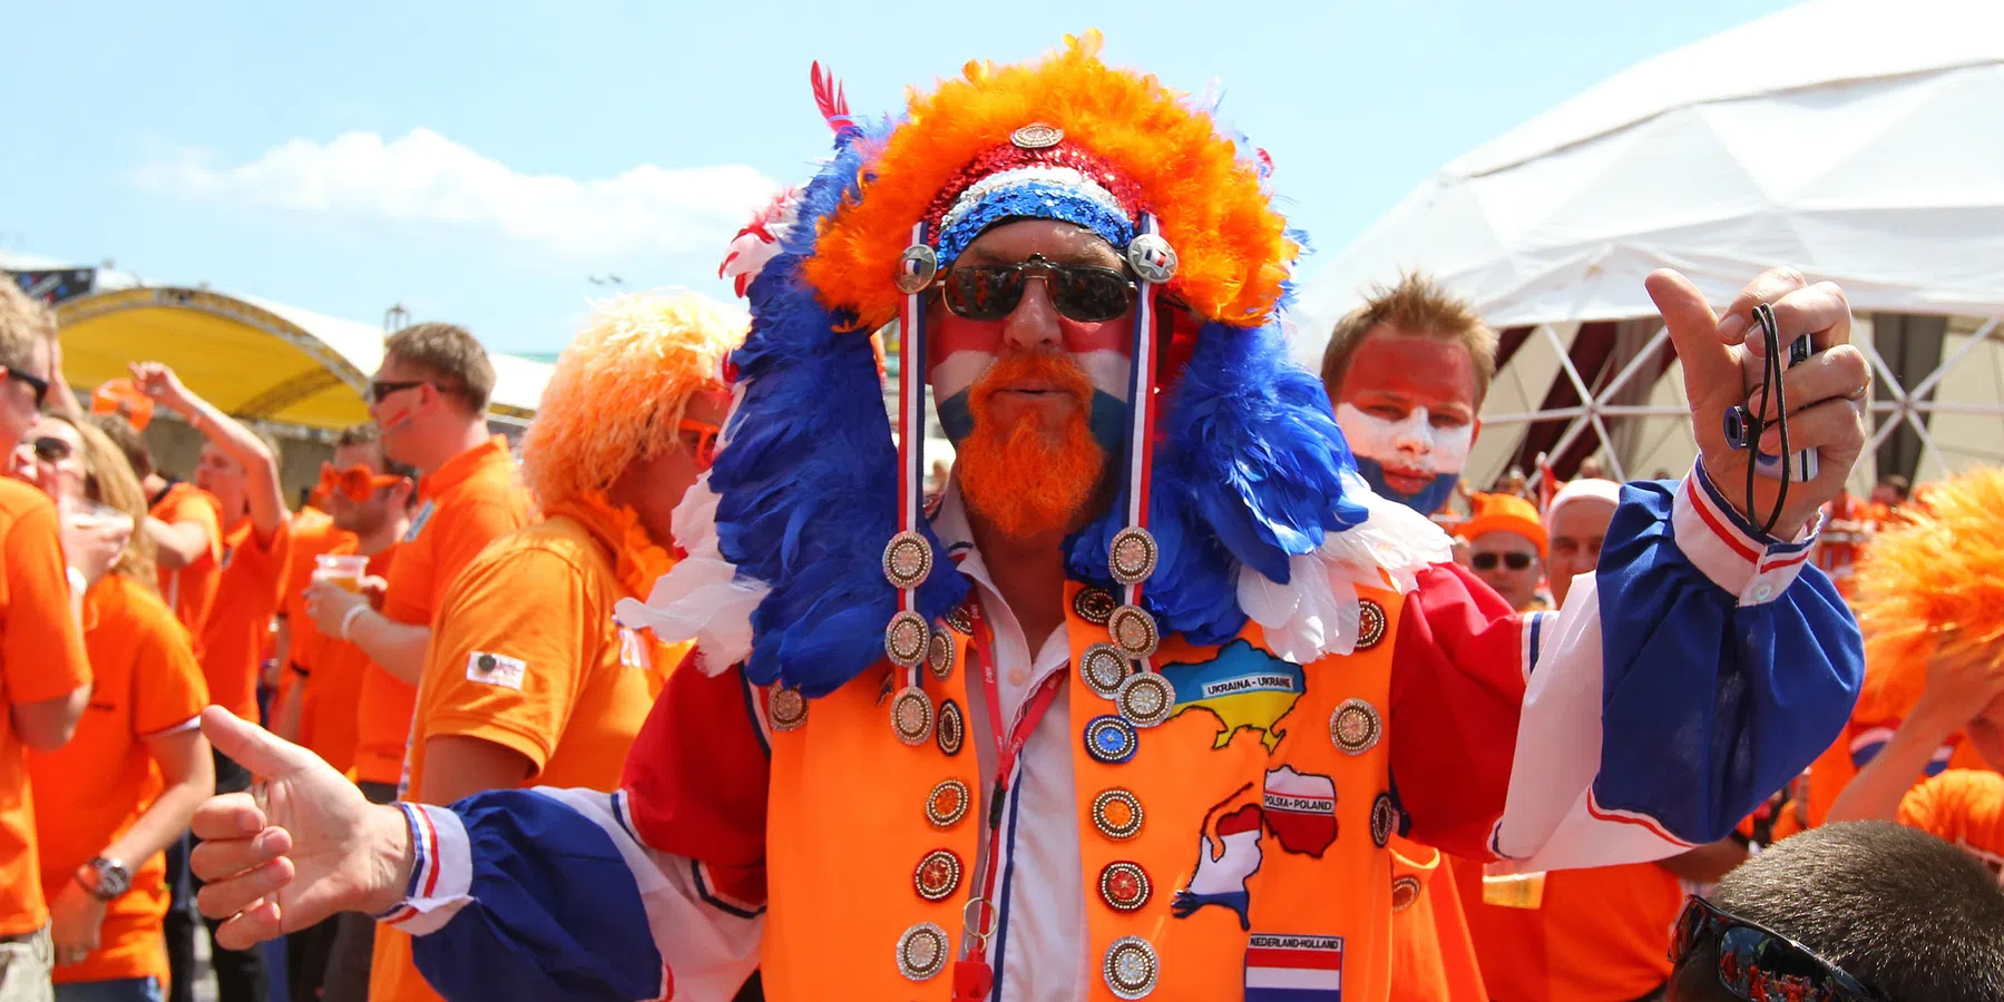
[[[1623,489],[1595,573],[1597,810],[1715,842],[1838,735],[1864,643],[1812,541],[1758,535],[1703,469]]]

